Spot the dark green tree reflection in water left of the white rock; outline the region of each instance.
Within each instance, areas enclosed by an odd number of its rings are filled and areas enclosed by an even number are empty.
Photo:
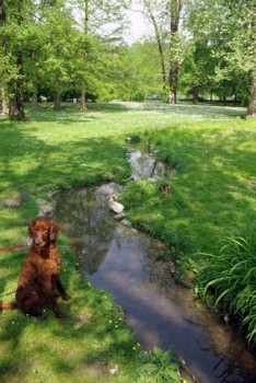
[[[71,239],[84,269],[89,274],[95,272],[104,260],[115,230],[105,196],[88,187],[63,192],[56,201],[56,219]]]

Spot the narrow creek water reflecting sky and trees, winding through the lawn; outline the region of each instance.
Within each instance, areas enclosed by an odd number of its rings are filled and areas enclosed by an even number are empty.
[[[129,151],[133,179],[163,176],[164,165],[146,156]],[[172,348],[200,383],[256,382],[255,353],[235,329],[175,282],[172,260],[156,260],[163,244],[114,219],[107,196],[120,190],[110,183],[54,197],[54,218],[69,236],[86,280],[114,295],[144,349]]]

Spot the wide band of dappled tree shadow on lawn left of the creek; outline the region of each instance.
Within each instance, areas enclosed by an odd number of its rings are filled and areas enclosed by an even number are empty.
[[[51,185],[54,188],[95,183],[106,174],[121,178],[129,167],[125,148],[113,138],[81,137],[69,141],[60,138],[56,144],[7,124],[0,128],[2,195],[35,192],[37,186]],[[72,132],[71,132],[72,134]],[[50,136],[50,135],[49,135]],[[10,197],[7,196],[7,197]],[[1,197],[0,197],[1,198]]]

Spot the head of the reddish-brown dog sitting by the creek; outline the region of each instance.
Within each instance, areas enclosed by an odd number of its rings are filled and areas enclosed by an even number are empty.
[[[45,247],[56,242],[59,225],[47,217],[39,217],[31,222],[28,232],[36,247]]]

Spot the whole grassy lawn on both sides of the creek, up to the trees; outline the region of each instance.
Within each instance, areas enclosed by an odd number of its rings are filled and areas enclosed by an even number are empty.
[[[237,118],[244,114],[220,106],[110,103],[89,105],[85,114],[71,104],[59,113],[42,105],[39,113],[27,109],[28,121],[20,124],[1,117],[0,246],[27,237],[35,199],[50,198],[48,190],[128,181],[125,140],[139,135],[176,174],[156,184],[128,184],[129,218],[168,245],[181,270],[200,272],[197,252],[214,252],[219,237],[255,221],[256,124]],[[167,195],[160,192],[163,182],[171,185]],[[18,208],[7,207],[9,197],[20,199]],[[112,298],[77,270],[67,239],[59,244],[62,280],[72,295],[60,302],[67,318],[48,311],[43,322],[19,311],[1,313],[1,382],[172,381],[168,355],[140,350]],[[25,255],[0,252],[0,300],[13,300]]]

